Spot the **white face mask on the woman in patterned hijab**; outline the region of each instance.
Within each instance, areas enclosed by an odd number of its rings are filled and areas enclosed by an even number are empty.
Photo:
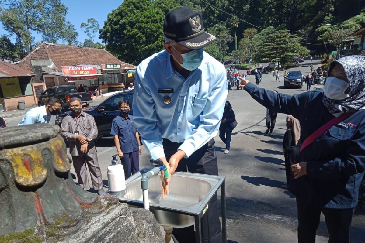
[[[326,79],[326,84],[324,85],[324,94],[335,100],[342,100],[350,97],[349,94],[345,94],[345,91],[350,87],[350,84],[339,78],[329,77]]]

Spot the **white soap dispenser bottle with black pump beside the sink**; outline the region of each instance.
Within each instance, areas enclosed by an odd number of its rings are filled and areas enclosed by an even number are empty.
[[[118,163],[118,154],[112,156],[112,164],[108,166],[109,194],[122,197],[126,194],[126,179],[124,168]]]

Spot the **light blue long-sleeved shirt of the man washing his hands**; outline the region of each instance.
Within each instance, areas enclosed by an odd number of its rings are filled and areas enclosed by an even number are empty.
[[[134,83],[133,117],[143,144],[157,160],[164,157],[162,138],[181,142],[187,157],[215,137],[228,94],[226,69],[204,52],[187,79],[174,71],[164,50],[143,60]],[[173,93],[159,90],[173,89]],[[165,104],[169,96],[171,103]]]

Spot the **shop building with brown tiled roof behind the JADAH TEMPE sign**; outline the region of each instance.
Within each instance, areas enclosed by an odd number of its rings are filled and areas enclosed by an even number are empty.
[[[42,42],[20,63],[22,68],[33,71],[31,82],[44,82],[46,88],[73,84],[99,86],[102,92],[120,90],[134,82],[135,66],[122,62],[104,49],[67,46]],[[62,67],[96,67],[97,74],[68,75]]]

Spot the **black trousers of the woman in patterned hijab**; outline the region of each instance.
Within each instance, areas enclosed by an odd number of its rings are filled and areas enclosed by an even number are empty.
[[[320,213],[324,215],[330,239],[328,243],[350,243],[354,208],[320,208],[296,199],[298,208],[298,243],[315,243]]]

